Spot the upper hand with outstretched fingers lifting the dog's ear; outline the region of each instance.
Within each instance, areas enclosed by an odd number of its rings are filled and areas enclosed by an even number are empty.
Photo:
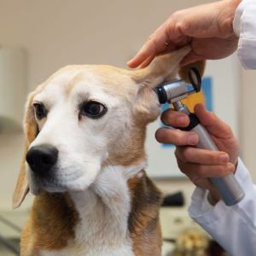
[[[183,9],[172,14],[148,38],[129,67],[146,67],[154,56],[190,44],[191,52],[182,64],[221,59],[237,48],[232,22],[241,0],[224,0]]]

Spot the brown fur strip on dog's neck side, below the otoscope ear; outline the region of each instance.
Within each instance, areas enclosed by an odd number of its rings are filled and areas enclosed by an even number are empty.
[[[132,177],[128,181],[131,191],[131,213],[129,231],[133,250],[137,256],[157,256],[161,252],[159,189],[143,171],[143,177]]]

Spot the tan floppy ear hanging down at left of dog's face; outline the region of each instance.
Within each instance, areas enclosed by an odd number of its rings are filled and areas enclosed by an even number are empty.
[[[26,179],[26,152],[29,148],[30,143],[37,137],[38,135],[38,125],[34,116],[34,110],[32,107],[32,100],[35,96],[35,92],[32,92],[28,96],[28,100],[26,102],[26,113],[24,119],[24,131],[25,131],[25,147],[23,158],[20,166],[19,177],[15,186],[15,192],[13,195],[13,208],[20,207],[22,201],[24,201],[26,194],[28,193],[28,182]]]

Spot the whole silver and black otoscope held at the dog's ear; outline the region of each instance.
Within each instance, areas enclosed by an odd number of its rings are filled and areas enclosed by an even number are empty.
[[[189,126],[181,128],[184,131],[195,131],[199,137],[196,147],[218,151],[206,128],[201,125],[195,113],[190,113],[189,108],[181,102],[184,98],[201,90],[201,75],[195,67],[189,69],[189,81],[186,84],[182,79],[176,79],[169,83],[162,84],[155,89],[160,104],[166,102],[173,105],[178,112],[186,113],[189,116]],[[219,195],[227,206],[234,206],[244,197],[244,192],[237,182],[233,173],[225,177],[209,177],[212,185],[218,190]]]

